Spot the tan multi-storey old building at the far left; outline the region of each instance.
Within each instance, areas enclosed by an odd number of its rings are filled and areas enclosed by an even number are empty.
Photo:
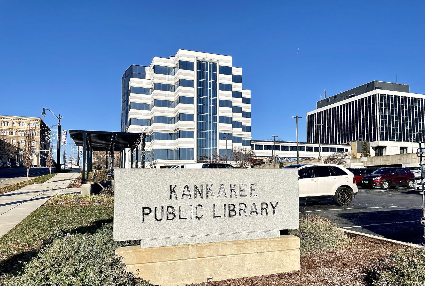
[[[22,149],[25,147],[25,136],[29,130],[34,133],[33,152],[37,153],[33,166],[45,167],[50,147],[45,134],[50,133],[50,128],[41,118],[0,115],[0,140]]]

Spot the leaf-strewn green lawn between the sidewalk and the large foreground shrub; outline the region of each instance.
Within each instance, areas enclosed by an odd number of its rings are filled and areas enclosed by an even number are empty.
[[[43,205],[0,238],[2,278],[19,273],[23,264],[66,233],[94,232],[113,221],[113,205]]]

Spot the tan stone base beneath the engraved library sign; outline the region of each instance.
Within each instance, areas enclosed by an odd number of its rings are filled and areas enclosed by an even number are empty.
[[[161,286],[300,270],[300,240],[294,235],[151,248],[127,246],[115,253],[124,258],[128,271]]]

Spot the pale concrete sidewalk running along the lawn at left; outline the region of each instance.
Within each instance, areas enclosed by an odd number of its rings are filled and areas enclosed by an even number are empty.
[[[59,173],[45,183],[28,185],[20,190],[0,195],[0,237],[52,196],[74,193],[75,189],[66,190],[66,187],[79,176],[79,171],[74,169],[69,173]]]

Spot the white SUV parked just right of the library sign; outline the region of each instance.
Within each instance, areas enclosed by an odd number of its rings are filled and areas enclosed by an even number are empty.
[[[300,202],[333,199],[346,207],[358,193],[353,173],[341,165],[306,164],[283,168],[298,169]]]

